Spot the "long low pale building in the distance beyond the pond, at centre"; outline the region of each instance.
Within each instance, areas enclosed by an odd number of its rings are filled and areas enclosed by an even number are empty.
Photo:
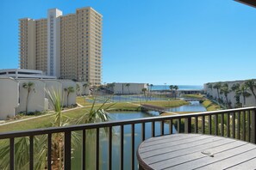
[[[142,94],[142,88],[147,88],[146,83],[115,83],[114,94]]]

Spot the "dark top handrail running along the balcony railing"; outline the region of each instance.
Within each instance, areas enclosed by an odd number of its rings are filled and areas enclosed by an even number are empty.
[[[102,122],[102,123],[95,123],[95,124],[76,124],[76,125],[70,125],[70,126],[50,127],[50,128],[43,128],[43,129],[36,129],[36,130],[29,130],[29,131],[10,131],[10,132],[0,133],[0,139],[6,139],[6,138],[12,138],[12,137],[28,137],[28,136],[66,132],[66,131],[82,131],[84,129],[90,130],[94,128],[104,128],[104,127],[119,126],[119,125],[126,125],[126,124],[141,124],[141,123],[147,123],[147,122],[165,121],[168,119],[191,118],[191,117],[215,115],[220,113],[241,112],[241,111],[250,111],[250,110],[256,110],[256,106],[238,108],[238,109],[219,110],[219,111],[213,111],[213,112],[197,112],[197,113],[188,113],[188,114],[171,115],[171,116],[159,116],[159,117],[151,117],[151,118],[116,120],[116,121],[109,121],[109,122]]]

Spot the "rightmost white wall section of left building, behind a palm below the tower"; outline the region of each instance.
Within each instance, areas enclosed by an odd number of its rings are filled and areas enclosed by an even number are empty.
[[[76,104],[76,98],[77,98],[77,93],[76,93],[76,82],[73,82],[71,80],[59,80],[59,82],[62,83],[62,92],[63,92],[63,105],[64,106],[71,106],[71,105],[74,105]],[[73,87],[75,92],[74,93],[70,93],[69,94],[69,97],[67,99],[67,93],[65,91],[65,88],[68,88],[68,87]],[[68,101],[67,101],[68,100]]]

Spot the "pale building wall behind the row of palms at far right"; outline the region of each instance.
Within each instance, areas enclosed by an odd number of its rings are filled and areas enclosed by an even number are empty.
[[[239,83],[240,86],[241,86],[244,82],[245,81],[232,81],[232,82],[230,81],[230,82],[222,82],[222,84],[228,83],[228,87],[231,88],[236,83]],[[212,83],[212,85],[214,86],[216,82],[210,82],[210,83]],[[211,90],[211,88],[209,88],[207,84],[204,84],[203,85],[203,90],[206,94],[213,96],[214,99],[218,98],[217,89],[212,88],[212,90]],[[252,94],[251,90],[249,90],[249,89],[248,89],[248,92],[250,94]],[[256,92],[256,88],[254,88],[254,92]],[[233,107],[235,106],[235,103],[236,103],[236,100],[234,98],[234,94],[235,93],[233,91],[228,94],[228,101],[230,101],[232,103],[231,106],[233,106]],[[220,94],[220,98],[223,101],[225,101],[224,94]],[[242,96],[240,96],[240,103],[243,103],[243,97]],[[246,98],[246,105],[245,106],[256,106],[256,101],[253,97],[253,94],[250,97]]]

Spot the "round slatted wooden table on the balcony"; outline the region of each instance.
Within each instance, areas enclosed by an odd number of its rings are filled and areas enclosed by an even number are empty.
[[[256,145],[201,134],[152,137],[137,150],[140,169],[256,169]]]

